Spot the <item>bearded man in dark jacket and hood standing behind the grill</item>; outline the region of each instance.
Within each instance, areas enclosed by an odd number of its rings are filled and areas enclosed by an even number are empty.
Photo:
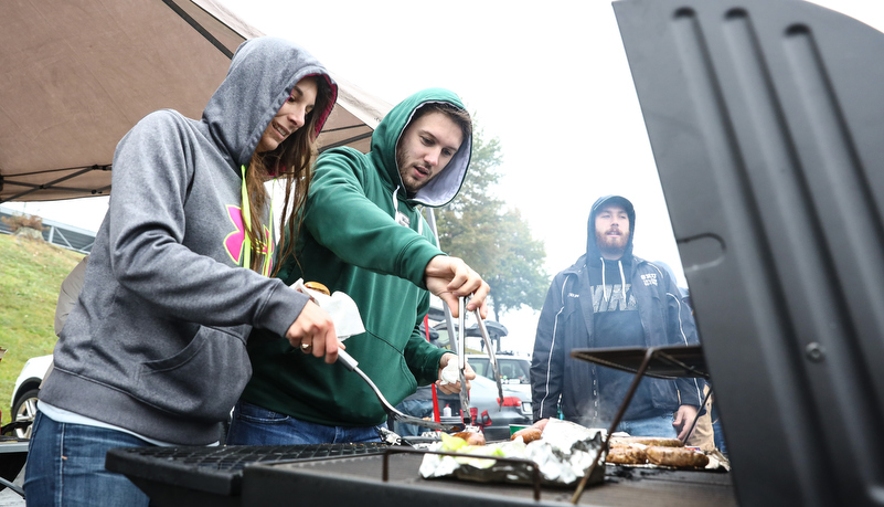
[[[632,255],[636,212],[619,196],[589,213],[586,254],[553,278],[537,323],[531,383],[534,420],[562,415],[607,429],[633,376],[571,359],[576,348],[696,344],[691,309],[660,266]],[[646,377],[618,425],[637,436],[684,437],[703,389],[696,379]]]

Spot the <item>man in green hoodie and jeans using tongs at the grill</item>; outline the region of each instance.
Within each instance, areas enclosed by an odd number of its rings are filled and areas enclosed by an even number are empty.
[[[297,260],[283,260],[279,277],[319,282],[356,303],[365,332],[347,351],[394,405],[417,385],[436,382],[455,357],[418,332],[429,293],[457,315],[487,314],[488,284],[464,261],[436,245],[416,209],[443,207],[467,176],[472,126],[454,93],[432,88],[394,107],[372,135],[371,151],[323,152],[316,163],[302,215]],[[280,250],[284,251],[284,250]],[[386,413],[371,388],[341,365],[326,365],[266,331],[248,341],[253,376],[234,411],[228,444],[295,445],[377,441]],[[467,379],[475,378],[471,370]],[[469,389],[469,385],[465,387]]]

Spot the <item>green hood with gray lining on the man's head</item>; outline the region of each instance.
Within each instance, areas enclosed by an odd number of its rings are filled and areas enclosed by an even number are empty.
[[[403,187],[400,169],[396,165],[396,146],[412,120],[414,113],[425,104],[448,103],[460,109],[466,109],[460,98],[445,88],[429,88],[418,92],[398,103],[390,110],[372,134],[371,157],[375,165],[384,168],[393,188]],[[472,157],[472,138],[464,139],[460,149],[448,162],[439,176],[434,178],[424,188],[417,191],[412,201],[433,208],[443,207],[460,191],[467,177],[470,158]]]

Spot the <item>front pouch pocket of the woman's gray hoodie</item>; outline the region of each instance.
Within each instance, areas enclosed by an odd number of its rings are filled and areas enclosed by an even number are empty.
[[[179,352],[142,362],[134,394],[175,414],[223,421],[251,377],[242,338],[230,330],[201,327]]]

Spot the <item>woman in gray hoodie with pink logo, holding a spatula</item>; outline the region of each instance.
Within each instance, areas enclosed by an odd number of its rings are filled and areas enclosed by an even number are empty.
[[[267,276],[276,252],[264,186],[285,178],[280,226],[297,234],[336,97],[309,53],[259,38],[236,51],[200,120],[158,110],[120,140],[110,209],[40,392],[30,505],[148,505],[104,469],[107,450],[217,442],[252,374],[252,328],[337,359],[328,314]]]

